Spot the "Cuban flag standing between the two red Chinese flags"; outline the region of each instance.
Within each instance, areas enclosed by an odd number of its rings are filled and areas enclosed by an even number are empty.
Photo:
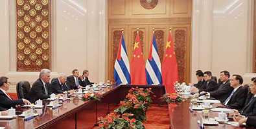
[[[146,83],[162,84],[161,62],[157,51],[156,37],[154,32],[148,60],[146,61]]]

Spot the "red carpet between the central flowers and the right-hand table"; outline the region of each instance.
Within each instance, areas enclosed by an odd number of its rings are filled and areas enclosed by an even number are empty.
[[[170,128],[170,119],[168,116],[167,105],[160,107],[158,105],[152,105],[148,108],[146,112],[147,121],[144,122],[146,129],[168,129]],[[93,129],[98,129],[99,126],[93,127]]]

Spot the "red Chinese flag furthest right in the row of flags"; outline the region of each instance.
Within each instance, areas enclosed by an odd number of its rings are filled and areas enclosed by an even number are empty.
[[[174,82],[179,81],[178,78],[178,64],[174,52],[172,36],[169,32],[169,37],[165,49],[165,55],[162,63],[162,78],[165,90],[167,93],[176,92],[174,89]]]

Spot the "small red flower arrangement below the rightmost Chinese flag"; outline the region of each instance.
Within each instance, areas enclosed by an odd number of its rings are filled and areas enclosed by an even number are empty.
[[[176,93],[164,94],[162,97],[160,97],[160,99],[162,100],[162,102],[167,103],[178,103],[183,101],[183,99]]]

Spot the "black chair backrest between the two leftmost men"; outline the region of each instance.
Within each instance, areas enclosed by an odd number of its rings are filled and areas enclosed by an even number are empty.
[[[29,81],[19,81],[16,85],[17,97],[19,99],[29,99],[30,84]]]

